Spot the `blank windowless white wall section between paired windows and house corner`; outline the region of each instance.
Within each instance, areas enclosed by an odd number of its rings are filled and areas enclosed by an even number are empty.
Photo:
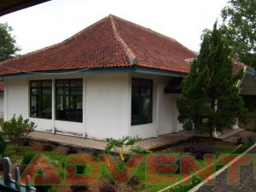
[[[96,74],[86,77],[86,135],[102,139],[128,135],[131,111],[129,75]]]

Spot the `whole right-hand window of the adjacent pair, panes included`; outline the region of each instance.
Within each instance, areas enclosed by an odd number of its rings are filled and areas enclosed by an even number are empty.
[[[83,121],[83,79],[56,80],[56,119]]]

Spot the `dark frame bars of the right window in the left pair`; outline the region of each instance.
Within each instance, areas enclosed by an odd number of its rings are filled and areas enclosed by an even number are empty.
[[[82,85],[81,86],[74,86],[74,87],[72,87],[71,86],[71,81],[81,81],[81,83],[82,83]],[[58,86],[58,81],[68,81],[68,86]],[[83,90],[84,90],[84,87],[83,87],[83,84],[84,84],[84,81],[83,81],[83,79],[55,79],[55,120],[60,120],[60,121],[68,121],[68,122],[77,122],[77,123],[83,123],[83,120],[84,120],[84,115],[83,115],[83,111],[84,111],[84,101],[83,101],[83,96],[84,96],[84,92],[83,92]],[[60,94],[58,94],[58,88],[60,89],[63,89],[63,93],[62,93],[62,95]],[[73,95],[72,93],[71,93],[71,90],[73,89],[73,88],[79,88],[79,89],[82,89],[82,95],[81,95],[81,97],[82,97],[82,108],[81,108],[81,111],[82,111],[82,113],[81,113],[81,120],[76,120],[76,119],[72,119],[71,118],[71,97],[72,96],[79,96],[79,95]],[[58,108],[57,108],[57,105],[58,105],[58,100],[57,100],[57,97],[58,96],[67,96],[64,92],[65,92],[65,89],[68,89],[68,118],[67,119],[59,119],[58,118],[58,115],[57,115],[57,113],[58,113]],[[65,108],[65,107],[64,107]]]

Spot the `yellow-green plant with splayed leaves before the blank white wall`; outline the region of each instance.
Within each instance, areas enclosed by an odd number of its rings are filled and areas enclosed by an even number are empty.
[[[130,146],[130,149],[133,147],[133,145],[139,141],[141,141],[142,138],[138,136],[123,136],[119,139],[114,139],[113,137],[107,138],[107,146],[105,148],[105,153],[108,153],[111,149],[113,149],[115,152],[119,153],[120,160],[125,160],[125,154],[124,154],[124,147]]]

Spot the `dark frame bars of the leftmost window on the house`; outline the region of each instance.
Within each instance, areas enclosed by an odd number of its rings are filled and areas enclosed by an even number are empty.
[[[50,82],[50,86],[43,86],[43,83],[44,82]],[[40,82],[40,85],[39,86],[35,86],[35,87],[32,87],[32,83],[33,82]],[[52,96],[53,96],[53,93],[52,93],[52,79],[42,79],[42,80],[30,80],[29,82],[29,85],[30,85],[30,88],[29,88],[29,97],[30,97],[30,102],[29,102],[29,116],[30,118],[36,118],[36,119],[52,119],[52,111],[53,111],[53,108],[52,108]],[[39,89],[40,90],[40,104],[38,104],[38,116],[37,117],[32,117],[32,96],[36,96],[35,94],[32,94],[32,89]],[[50,89],[50,106],[51,106],[51,110],[50,110],[50,117],[47,118],[47,117],[43,117],[43,99],[44,99],[44,89]],[[45,95],[45,96],[49,96],[49,95]],[[41,114],[41,116],[39,116],[39,114]]]

